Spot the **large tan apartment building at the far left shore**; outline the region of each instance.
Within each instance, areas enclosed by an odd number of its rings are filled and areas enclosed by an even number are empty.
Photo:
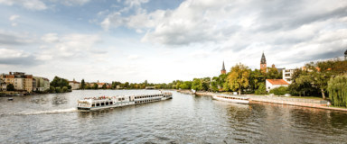
[[[25,75],[23,72],[9,72],[9,74],[0,75],[5,83],[14,85],[14,89],[17,91],[27,91],[31,93],[33,91],[33,75]]]

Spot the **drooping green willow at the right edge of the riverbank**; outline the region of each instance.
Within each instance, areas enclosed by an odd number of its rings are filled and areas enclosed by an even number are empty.
[[[327,89],[333,106],[347,107],[347,76],[330,78]]]

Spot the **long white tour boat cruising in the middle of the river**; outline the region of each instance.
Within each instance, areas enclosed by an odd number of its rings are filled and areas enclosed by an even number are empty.
[[[127,106],[138,103],[158,102],[173,98],[171,93],[161,94],[140,94],[122,96],[99,96],[78,100],[78,110],[98,110],[119,106]]]

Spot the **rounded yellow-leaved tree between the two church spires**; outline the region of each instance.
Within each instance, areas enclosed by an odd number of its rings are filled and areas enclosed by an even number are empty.
[[[242,88],[249,86],[249,68],[242,64],[231,67],[227,80],[232,91],[239,90],[241,94]]]

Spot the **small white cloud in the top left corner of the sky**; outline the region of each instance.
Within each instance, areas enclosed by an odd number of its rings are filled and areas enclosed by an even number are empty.
[[[40,0],[0,0],[0,4],[20,5],[26,9],[40,11],[47,9],[47,5]]]

